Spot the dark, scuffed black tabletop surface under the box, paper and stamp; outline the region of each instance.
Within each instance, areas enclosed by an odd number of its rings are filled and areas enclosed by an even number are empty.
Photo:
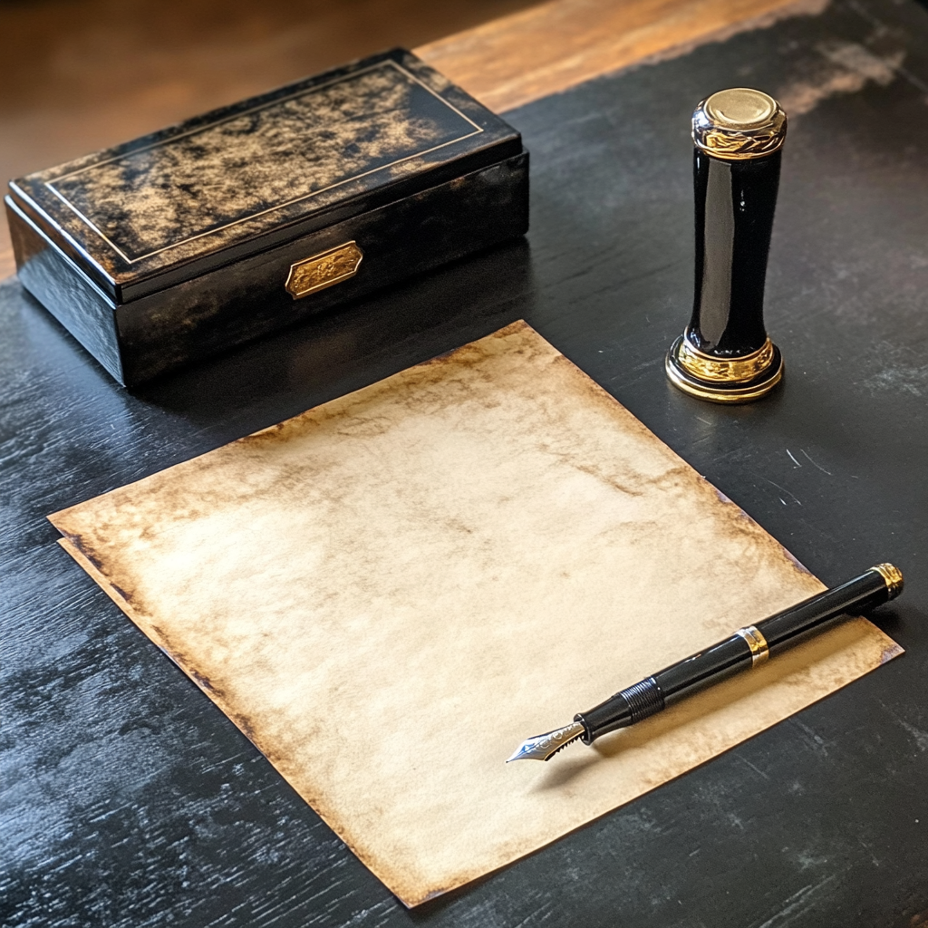
[[[791,113],[754,406],[664,380],[692,288],[689,115]],[[0,285],[8,926],[928,924],[928,14],[839,0],[509,114],[532,231],[135,394]],[[55,544],[49,512],[524,317],[825,582],[907,574],[907,653],[407,911]]]

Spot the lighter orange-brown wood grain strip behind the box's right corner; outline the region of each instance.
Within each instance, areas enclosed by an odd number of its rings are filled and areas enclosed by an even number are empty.
[[[601,74],[814,15],[827,0],[552,0],[416,49],[504,112]]]

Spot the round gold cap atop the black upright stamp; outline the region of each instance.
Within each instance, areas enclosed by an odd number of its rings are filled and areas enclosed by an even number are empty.
[[[786,138],[786,113],[773,98],[750,87],[731,87],[706,97],[693,111],[693,141],[713,158],[766,158]]]

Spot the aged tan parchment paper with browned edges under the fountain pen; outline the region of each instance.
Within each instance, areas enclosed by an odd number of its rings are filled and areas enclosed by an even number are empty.
[[[504,764],[822,588],[522,322],[50,518],[408,906],[901,651],[851,620],[593,748]]]

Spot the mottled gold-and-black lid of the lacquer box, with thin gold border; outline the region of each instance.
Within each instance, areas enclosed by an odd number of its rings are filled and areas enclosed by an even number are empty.
[[[393,49],[9,187],[125,303],[521,150],[508,123]]]

